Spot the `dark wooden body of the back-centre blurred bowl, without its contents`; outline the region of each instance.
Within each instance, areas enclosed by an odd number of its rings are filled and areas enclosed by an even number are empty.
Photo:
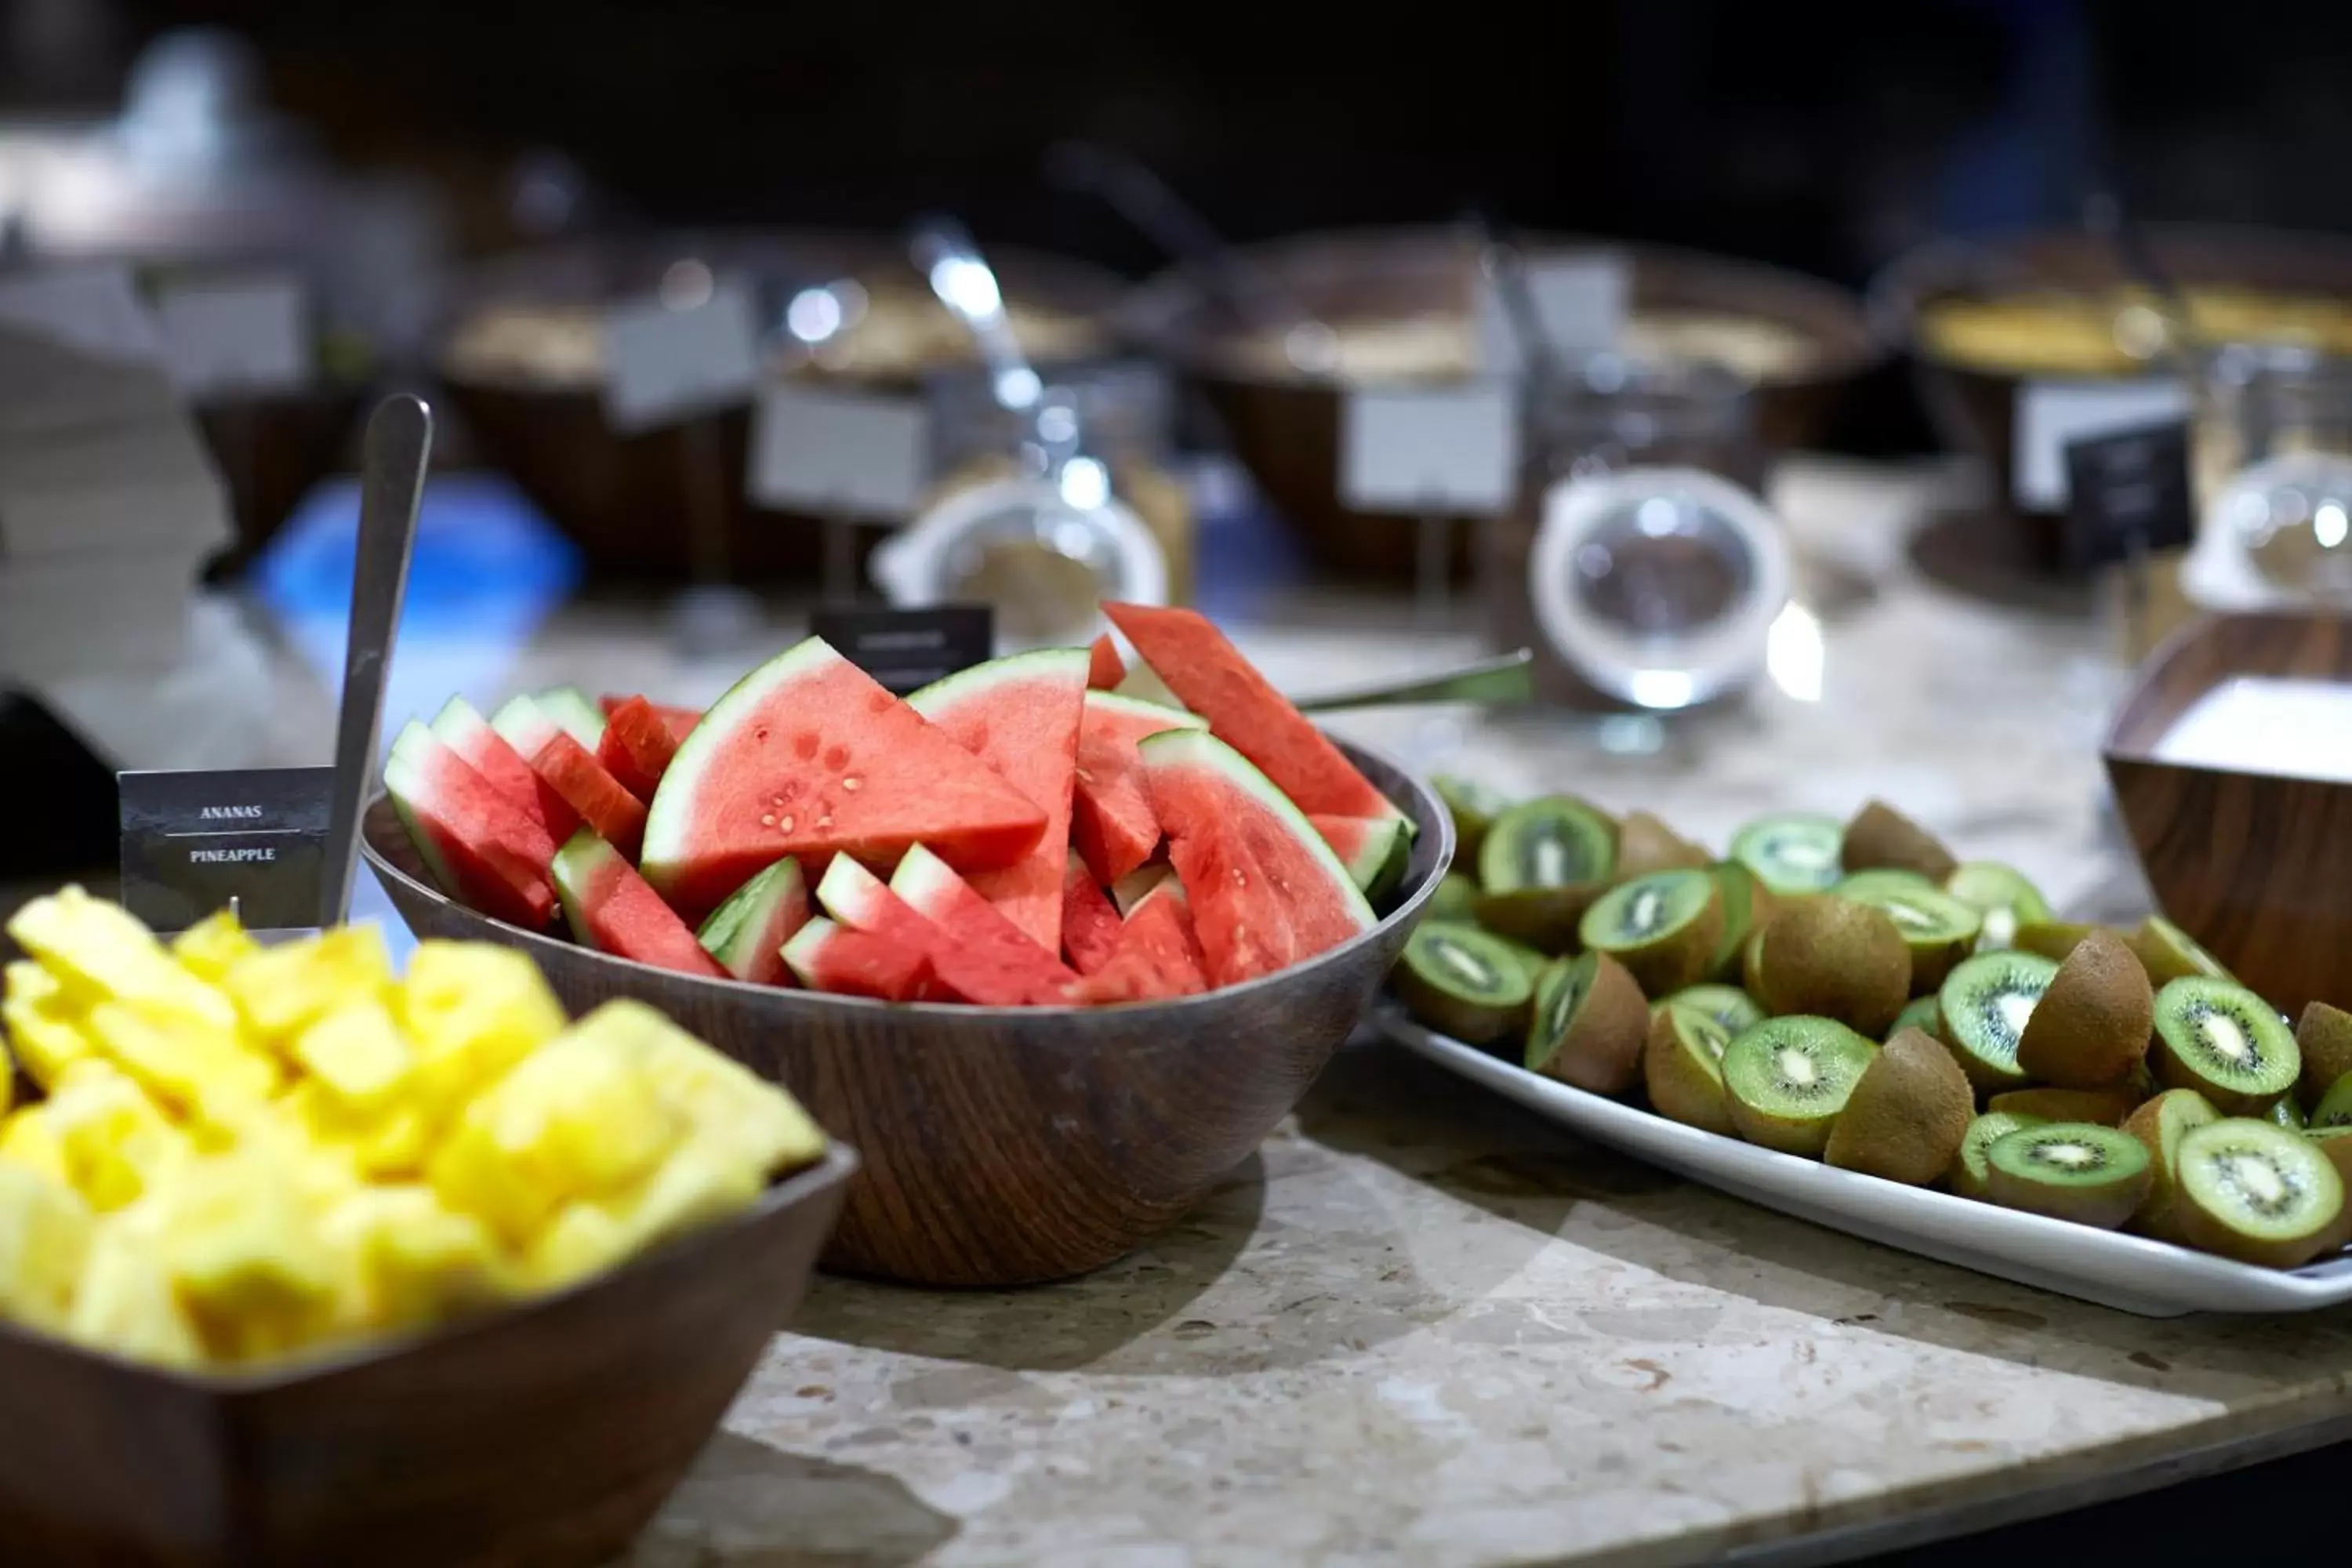
[[[1698,252],[1616,240],[1538,235],[1531,247],[1609,249],[1632,263],[1632,310],[1745,317],[1802,336],[1811,362],[1757,388],[1757,435],[1780,451],[1820,437],[1837,400],[1884,350],[1860,301],[1846,289]],[[1468,320],[1477,256],[1458,228],[1369,228],[1301,235],[1247,247],[1244,256],[1317,320],[1397,322],[1428,315]],[[1207,397],[1258,489],[1298,529],[1319,567],[1336,576],[1406,583],[1416,524],[1350,512],[1338,498],[1345,388],[1305,374],[1268,374],[1242,362],[1249,331],[1181,270],[1143,284],[1122,308],[1122,329],[1178,364]],[[1456,569],[1470,559],[1470,529],[1456,534]]]

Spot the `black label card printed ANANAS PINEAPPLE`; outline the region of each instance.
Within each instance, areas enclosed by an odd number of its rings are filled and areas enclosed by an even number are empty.
[[[334,769],[118,773],[122,905],[186,931],[238,905],[254,931],[315,926]]]

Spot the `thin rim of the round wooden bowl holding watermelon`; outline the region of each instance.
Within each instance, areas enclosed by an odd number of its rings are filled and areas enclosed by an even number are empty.
[[[1352,741],[1338,741],[1338,736],[1334,736],[1334,741],[1341,745],[1341,750],[1350,752],[1357,759],[1376,762],[1378,766],[1395,773],[1411,788],[1414,802],[1409,816],[1414,816],[1423,835],[1432,832],[1437,835],[1435,839],[1437,856],[1432,858],[1428,875],[1421,879],[1418,886],[1402,891],[1397,896],[1395,907],[1388,914],[1376,919],[1364,931],[1357,931],[1338,947],[1327,947],[1324,952],[1317,952],[1312,959],[1305,959],[1303,964],[1291,964],[1289,969],[1279,969],[1270,976],[1258,976],[1256,980],[1242,980],[1240,985],[1223,985],[1218,990],[1200,992],[1197,997],[1174,997],[1167,1001],[1120,1001],[1112,1006],[969,1006],[962,1001],[877,1001],[873,997],[835,997],[830,992],[811,992],[786,985],[757,985],[753,980],[736,980],[731,976],[729,978],[689,976],[677,969],[661,969],[659,964],[640,964],[635,959],[597,952],[595,947],[581,947],[579,943],[546,936],[541,931],[527,931],[524,926],[515,926],[494,914],[482,914],[480,910],[463,905],[456,898],[449,898],[437,886],[409,877],[405,870],[393,865],[383,856],[383,851],[376,849],[374,837],[369,832],[369,825],[381,823],[383,818],[390,816],[388,811],[381,809],[386,802],[386,795],[381,790],[369,797],[367,811],[362,813],[360,849],[379,877],[397,879],[407,893],[423,898],[437,910],[454,912],[456,917],[468,922],[494,926],[499,936],[492,940],[506,945],[522,945],[522,950],[532,952],[534,959],[541,950],[553,950],[562,954],[564,961],[590,961],[590,964],[612,964],[619,969],[642,969],[644,973],[663,976],[666,983],[710,985],[717,987],[720,994],[734,992],[741,999],[760,997],[771,1006],[800,1004],[811,1009],[844,1009],[863,1013],[887,1013],[894,1018],[922,1018],[924,1023],[953,1025],[953,1020],[969,1020],[969,1023],[1016,1025],[1021,1020],[1042,1020],[1042,1018],[1054,1018],[1054,1020],[1098,1018],[1112,1011],[1120,1013],[1122,1018],[1134,1018],[1138,1011],[1157,1009],[1157,1013],[1164,1016],[1171,1027],[1183,1027],[1188,1013],[1192,1011],[1223,1006],[1237,997],[1247,997],[1261,990],[1272,990],[1284,983],[1296,983],[1303,976],[1310,976],[1319,969],[1331,969],[1348,961],[1348,957],[1355,954],[1359,947],[1381,940],[1397,922],[1416,917],[1421,907],[1437,893],[1437,884],[1444,882],[1446,870],[1454,865],[1454,816],[1444,809],[1444,802],[1437,799],[1437,792],[1430,788],[1430,783],[1418,773],[1397,764],[1378,748],[1359,745]],[[515,938],[520,938],[520,943]]]

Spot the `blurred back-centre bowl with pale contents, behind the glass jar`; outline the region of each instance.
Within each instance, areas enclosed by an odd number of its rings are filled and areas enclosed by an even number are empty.
[[[1769,449],[1820,437],[1839,395],[1882,355],[1860,301],[1769,266],[1693,252],[1545,235],[1548,254],[1606,252],[1630,270],[1621,350],[1646,362],[1700,362],[1752,381]],[[1324,322],[1336,369],[1305,371],[1279,329],[1235,320],[1188,273],[1129,299],[1122,327],[1178,364],[1221,414],[1237,456],[1301,531],[1319,564],[1357,578],[1414,574],[1406,517],[1350,512],[1338,498],[1343,402],[1350,388],[1461,381],[1479,355],[1477,247],[1458,228],[1329,233],[1247,247],[1240,256]],[[1468,569],[1468,529],[1458,569]]]

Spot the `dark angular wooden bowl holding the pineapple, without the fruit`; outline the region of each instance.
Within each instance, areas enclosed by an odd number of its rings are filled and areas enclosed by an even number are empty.
[[[195,1378],[0,1326],[0,1561],[609,1563],[800,1305],[856,1154],[562,1295]]]

